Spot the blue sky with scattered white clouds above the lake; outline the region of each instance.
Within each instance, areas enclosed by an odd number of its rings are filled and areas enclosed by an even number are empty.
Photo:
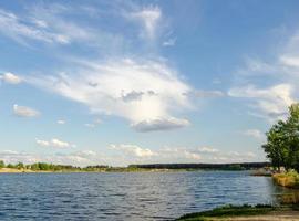
[[[299,97],[299,1],[0,2],[0,159],[266,160]]]

